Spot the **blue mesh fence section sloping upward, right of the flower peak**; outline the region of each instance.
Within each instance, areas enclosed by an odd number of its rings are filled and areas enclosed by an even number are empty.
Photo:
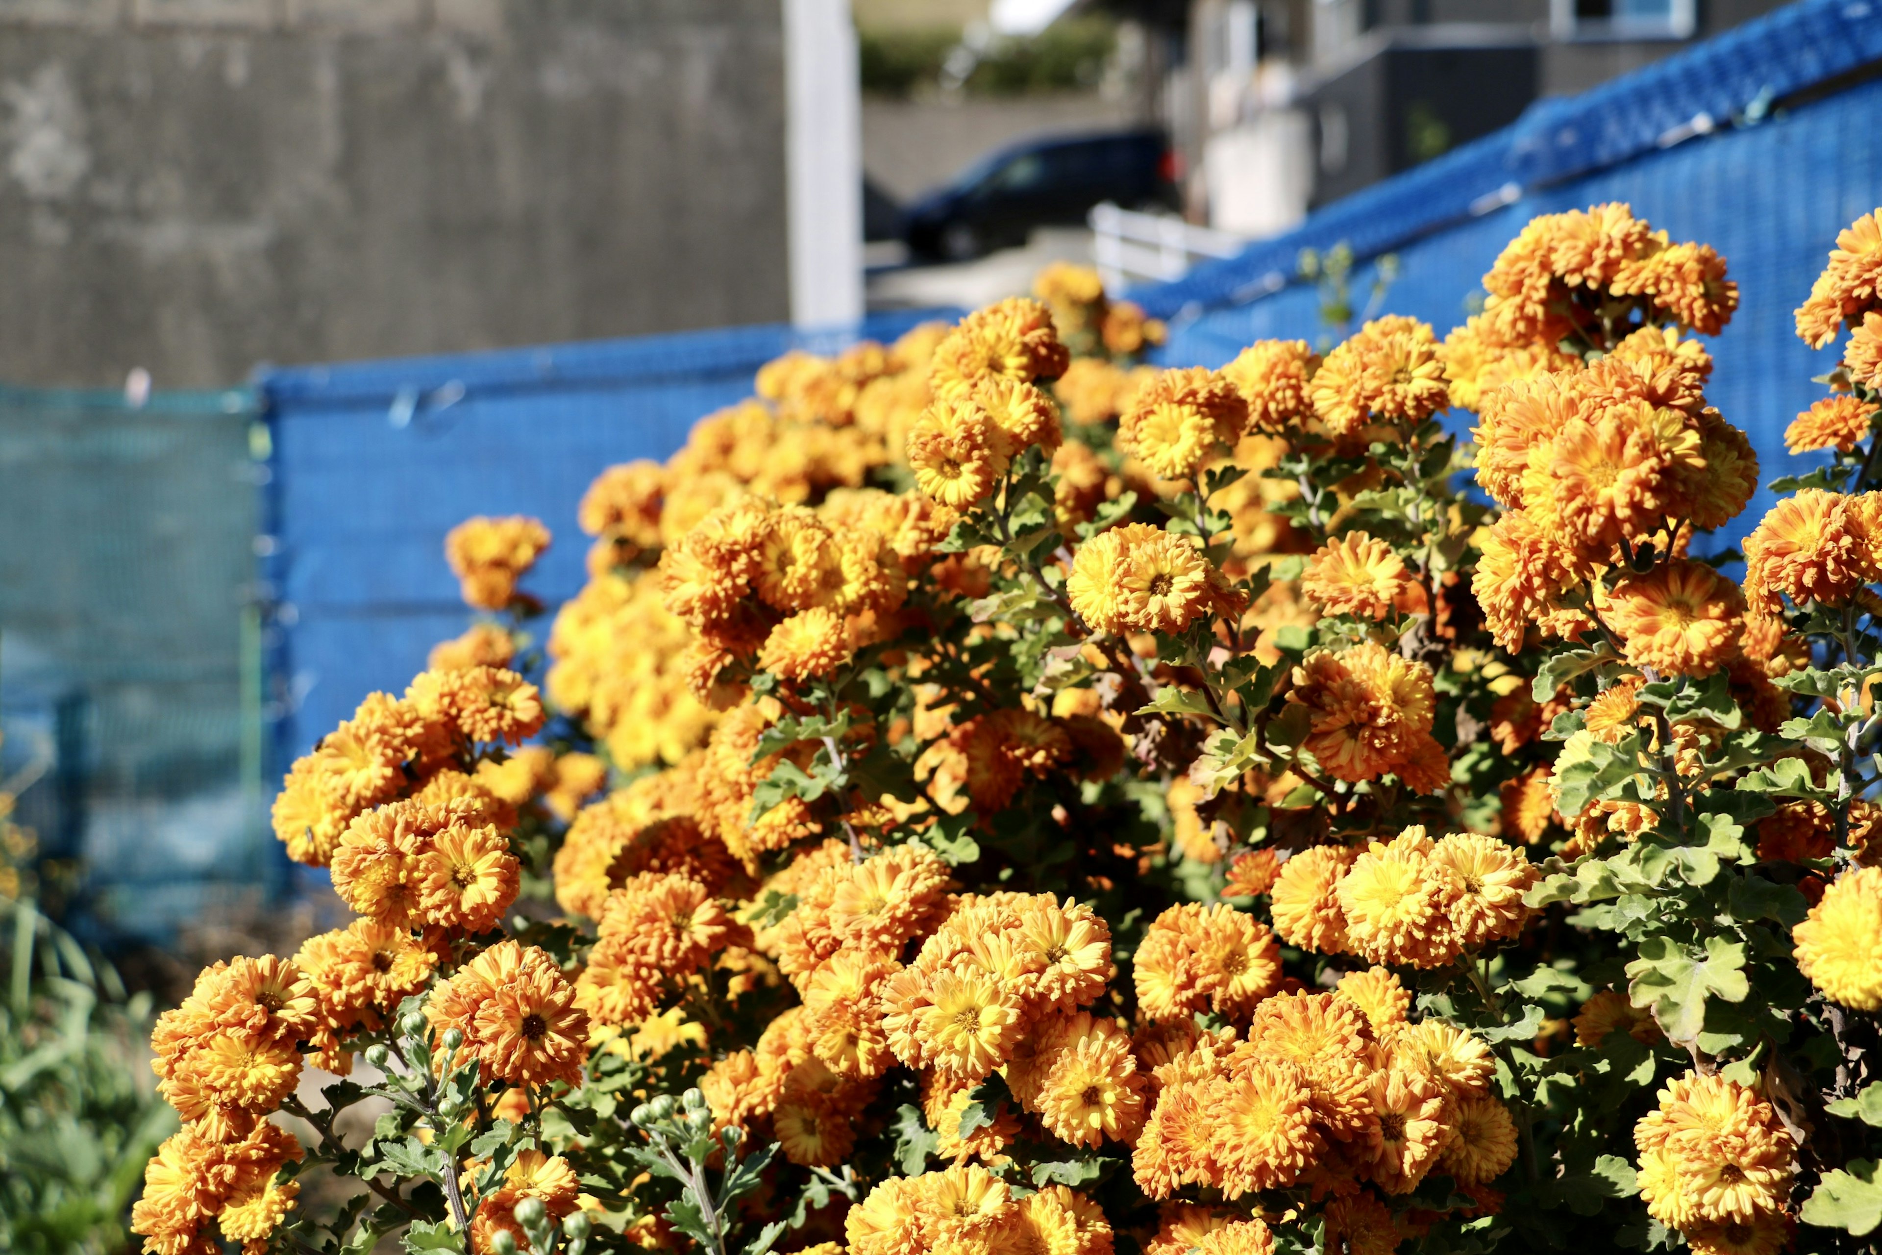
[[[1396,252],[1380,312],[1442,337],[1509,239],[1534,214],[1628,201],[1673,239],[1713,245],[1739,282],[1739,312],[1713,341],[1707,397],[1784,474],[1784,427],[1824,395],[1814,354],[1792,331],[1837,231],[1882,205],[1874,117],[1882,6],[1795,4],[1517,124],[1308,218],[1240,258],[1131,295],[1172,320],[1163,357],[1220,365],[1257,339],[1316,341],[1319,295],[1295,278],[1302,248],[1349,243],[1366,262]],[[1837,90],[1841,88],[1841,90]],[[1353,277],[1359,299],[1372,267]],[[1468,425],[1468,414],[1451,421]],[[1731,544],[1769,508],[1762,493],[1713,542]]]

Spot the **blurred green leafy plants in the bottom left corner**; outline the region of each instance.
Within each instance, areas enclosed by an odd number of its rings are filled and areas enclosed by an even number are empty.
[[[30,899],[0,901],[0,1251],[136,1249],[130,1200],[177,1127],[145,1061],[151,995]]]

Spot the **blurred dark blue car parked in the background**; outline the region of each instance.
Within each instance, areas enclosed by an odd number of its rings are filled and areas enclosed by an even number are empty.
[[[1080,226],[1092,205],[1176,209],[1174,154],[1156,130],[1054,135],[997,149],[907,207],[909,252],[964,262]]]

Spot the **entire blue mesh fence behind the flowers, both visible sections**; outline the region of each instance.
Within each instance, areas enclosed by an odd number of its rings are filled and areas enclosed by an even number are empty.
[[[1263,337],[1316,339],[1300,248],[1348,243],[1366,265],[1396,252],[1381,312],[1440,335],[1460,324],[1496,252],[1538,213],[1630,201],[1716,246],[1741,309],[1715,342],[1709,395],[1745,427],[1763,478],[1788,465],[1782,431],[1822,395],[1827,354],[1792,335],[1835,233],[1882,205],[1882,2],[1805,0],[1519,122],[1308,218],[1240,258],[1131,295],[1171,318],[1169,363],[1220,365]],[[792,346],[888,339],[920,314],[828,335],[783,327],[602,344],[263,371],[273,435],[265,587],[277,768],[373,689],[401,689],[465,623],[444,532],[470,514],[534,514],[557,534],[533,589],[582,583],[574,512],[589,480],[666,457],[689,425],[751,391]],[[1464,416],[1468,420],[1468,416]],[[1746,512],[1756,519],[1767,499]]]

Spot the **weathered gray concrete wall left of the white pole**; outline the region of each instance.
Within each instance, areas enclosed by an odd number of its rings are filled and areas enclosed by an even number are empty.
[[[0,0],[0,380],[789,314],[779,0]]]

